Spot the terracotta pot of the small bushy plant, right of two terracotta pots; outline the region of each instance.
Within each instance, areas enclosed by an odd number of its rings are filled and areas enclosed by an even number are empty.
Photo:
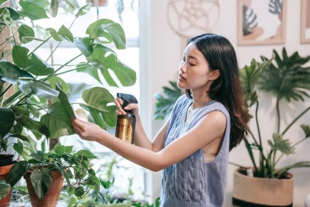
[[[32,167],[34,169],[35,167]],[[36,167],[37,168],[37,167]],[[30,175],[32,171],[28,171],[24,178],[26,180],[28,193],[31,200],[32,207],[56,207],[60,192],[62,190],[62,183],[63,183],[63,175],[59,171],[52,171],[53,181],[50,185],[47,193],[45,194],[44,198],[39,201],[38,196],[36,195],[34,188],[31,184]]]

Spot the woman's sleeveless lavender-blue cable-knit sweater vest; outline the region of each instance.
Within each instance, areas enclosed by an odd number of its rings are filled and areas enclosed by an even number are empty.
[[[209,162],[205,162],[202,149],[199,149],[186,159],[163,170],[161,207],[221,207],[224,202],[231,130],[230,115],[221,103],[210,100],[185,122],[191,103],[192,99],[185,95],[177,100],[171,113],[164,147],[194,127],[202,116],[211,111],[221,111],[226,116],[224,140],[217,156]]]

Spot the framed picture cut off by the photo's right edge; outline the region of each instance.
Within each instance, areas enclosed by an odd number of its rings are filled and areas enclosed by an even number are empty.
[[[310,0],[301,0],[300,43],[310,43]]]

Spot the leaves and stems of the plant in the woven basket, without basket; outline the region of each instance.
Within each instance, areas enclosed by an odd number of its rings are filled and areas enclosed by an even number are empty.
[[[301,125],[305,132],[305,138],[297,143],[291,143],[290,139],[285,139],[286,131],[294,125],[294,123],[302,117],[310,107],[306,108],[300,113],[284,130],[280,132],[280,109],[279,101],[285,98],[287,102],[292,99],[295,101],[304,101],[310,89],[310,67],[303,67],[310,60],[310,56],[302,58],[295,52],[292,56],[288,56],[285,48],[282,50],[282,59],[279,57],[277,51],[273,51],[271,59],[262,56],[263,63],[259,64],[254,59],[249,66],[240,69],[240,80],[244,91],[244,102],[247,109],[256,106],[255,117],[257,136],[251,133],[254,143],[250,143],[249,138],[245,139],[245,144],[248,149],[249,156],[254,166],[254,176],[267,178],[283,178],[289,169],[295,167],[310,167],[310,160],[298,162],[293,165],[285,166],[281,169],[276,169],[279,159],[283,155],[291,155],[295,153],[295,146],[303,142],[310,136],[309,125]],[[273,64],[275,62],[276,64]],[[272,134],[272,140],[267,140],[271,149],[267,154],[264,154],[263,143],[261,138],[261,131],[258,122],[258,107],[259,96],[256,91],[257,88],[264,92],[271,92],[277,98],[277,132]],[[253,150],[259,150],[260,160],[259,167],[254,159]],[[277,158],[277,152],[281,155]]]

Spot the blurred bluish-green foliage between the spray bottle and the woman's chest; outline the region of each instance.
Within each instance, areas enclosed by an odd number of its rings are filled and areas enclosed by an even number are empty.
[[[182,95],[181,89],[178,88],[176,82],[169,81],[172,88],[163,87],[164,96],[156,94],[156,109],[154,119],[166,120],[170,115],[174,103]]]

